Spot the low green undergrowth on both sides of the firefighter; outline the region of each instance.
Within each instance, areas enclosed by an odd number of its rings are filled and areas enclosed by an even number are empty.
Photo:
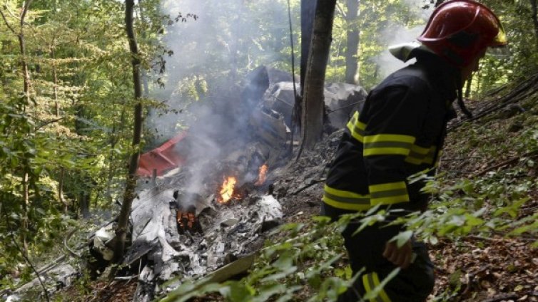
[[[524,114],[468,123],[452,132],[445,145],[449,165],[425,187],[435,197],[430,209],[395,223],[432,246],[440,239],[496,234],[525,237],[537,248],[538,109],[535,102],[525,105]],[[464,165],[469,170],[461,170]],[[382,221],[387,212],[369,214],[358,219],[363,224]],[[339,234],[350,219],[330,223],[327,217],[314,217],[308,224],[286,224],[260,251],[248,276],[225,283],[183,281],[162,301],[188,301],[211,292],[233,302],[335,301],[355,278]],[[410,233],[399,236],[405,239]],[[432,301],[450,300],[458,291],[447,288]]]

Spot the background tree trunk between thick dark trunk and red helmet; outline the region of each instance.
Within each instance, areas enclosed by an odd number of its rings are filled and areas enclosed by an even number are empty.
[[[347,14],[347,47],[345,51],[345,83],[358,84],[358,58],[359,30],[357,28],[357,16],[359,14],[360,0],[346,0]]]

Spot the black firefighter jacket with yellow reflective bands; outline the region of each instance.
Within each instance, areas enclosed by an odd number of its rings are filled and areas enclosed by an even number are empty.
[[[455,115],[456,72],[428,54],[369,93],[347,123],[330,167],[325,214],[335,218],[378,204],[425,207],[424,184],[407,178],[437,164],[447,121]]]

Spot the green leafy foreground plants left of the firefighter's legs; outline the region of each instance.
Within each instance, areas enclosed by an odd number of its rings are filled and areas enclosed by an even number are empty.
[[[311,225],[285,224],[274,234],[281,241],[266,243],[245,278],[222,284],[187,281],[161,301],[188,301],[210,292],[219,292],[227,301],[290,301],[305,291],[308,301],[335,300],[355,280],[350,267],[339,262],[344,251],[337,234],[349,220],[330,224],[328,217],[315,217]]]

